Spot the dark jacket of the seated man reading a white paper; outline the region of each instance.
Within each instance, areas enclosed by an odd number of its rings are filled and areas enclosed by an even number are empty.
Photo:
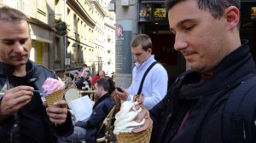
[[[76,126],[86,129],[85,140],[86,142],[96,142],[96,133],[101,128],[102,122],[107,117],[108,112],[115,105],[113,98],[109,94],[104,94],[99,100],[96,101],[92,108],[90,117],[86,122],[79,121]],[[101,134],[99,134],[101,136]]]

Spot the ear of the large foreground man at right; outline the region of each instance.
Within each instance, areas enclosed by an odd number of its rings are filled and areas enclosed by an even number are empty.
[[[240,20],[240,12],[235,6],[230,6],[224,10],[224,17],[228,22],[229,30],[236,28]]]

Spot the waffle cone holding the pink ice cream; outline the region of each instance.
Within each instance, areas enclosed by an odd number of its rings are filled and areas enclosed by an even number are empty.
[[[49,107],[52,107],[55,101],[62,100],[64,91],[65,91],[65,88],[63,88],[61,90],[57,90],[57,91],[53,92],[52,94],[45,96],[47,105]]]

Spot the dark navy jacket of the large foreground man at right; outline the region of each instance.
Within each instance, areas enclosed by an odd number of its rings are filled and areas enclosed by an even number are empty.
[[[166,97],[150,111],[154,120],[152,143],[222,143],[223,111],[226,95],[237,83],[255,74],[255,65],[247,42],[227,55],[214,70],[211,79],[200,82],[198,72],[185,72],[168,90]],[[249,90],[249,89],[246,89]],[[256,93],[256,89],[250,89]],[[247,93],[242,93],[244,95]],[[178,133],[185,114],[189,117]],[[254,120],[256,120],[254,109]],[[251,123],[250,128],[256,130]],[[256,136],[256,135],[255,135]],[[255,136],[254,141],[255,141]]]

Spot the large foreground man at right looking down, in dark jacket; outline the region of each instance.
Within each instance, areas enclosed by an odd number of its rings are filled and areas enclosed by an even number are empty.
[[[256,142],[255,64],[240,39],[239,6],[239,0],[166,0],[174,49],[190,70],[149,111],[150,142]]]

